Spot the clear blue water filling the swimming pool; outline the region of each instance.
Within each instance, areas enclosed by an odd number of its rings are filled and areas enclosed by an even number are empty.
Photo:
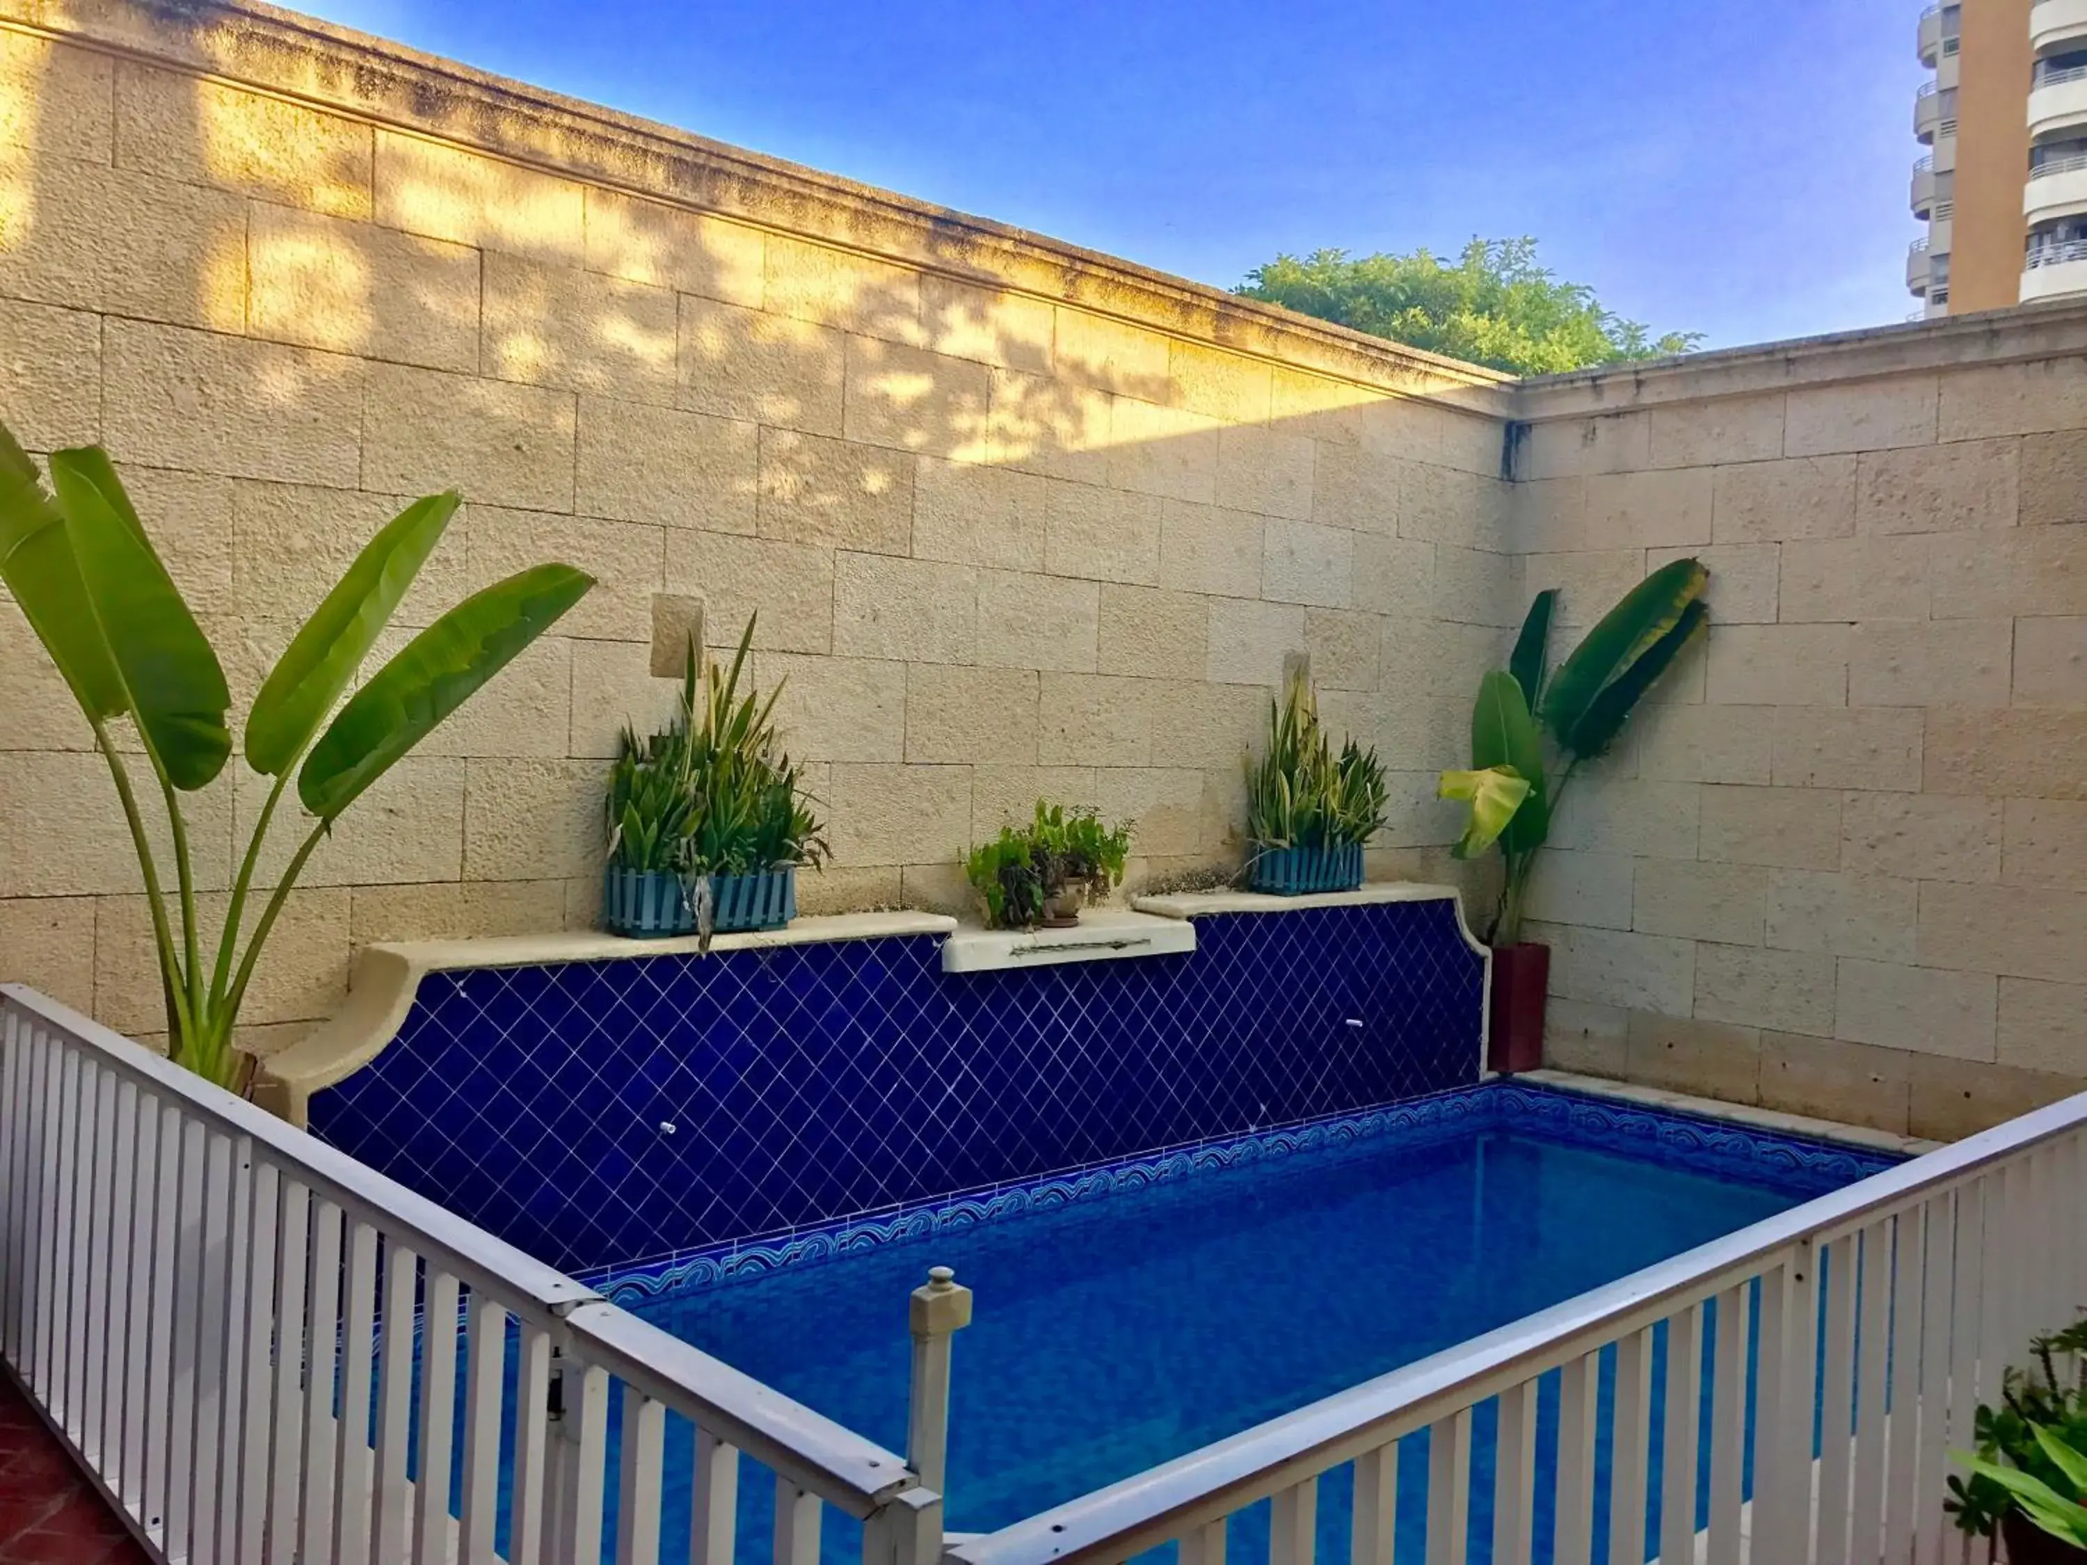
[[[1388,1135],[637,1310],[902,1450],[906,1296],[929,1265],[954,1267],[975,1290],[977,1315],[956,1338],[947,1525],[987,1532],[1741,1229],[1818,1187],[1816,1177],[1807,1189],[1791,1177],[1709,1175],[1528,1127],[1428,1143]],[[1603,1402],[1611,1377],[1605,1365]],[[1544,1452],[1555,1383],[1540,1408]],[[1421,1446],[1407,1442],[1409,1463]],[[1488,1511],[1490,1452],[1492,1411],[1482,1408],[1478,1517]],[[670,1454],[670,1471],[676,1465]],[[1417,1477],[1400,1484],[1413,1502]],[[1329,1475],[1329,1548],[1344,1548],[1346,1509],[1346,1475]],[[764,1494],[745,1496],[743,1521],[753,1544],[766,1532]],[[1252,1532],[1256,1521],[1236,1525]],[[1607,1517],[1599,1527],[1607,1532]],[[1405,1544],[1417,1548],[1417,1532]]]

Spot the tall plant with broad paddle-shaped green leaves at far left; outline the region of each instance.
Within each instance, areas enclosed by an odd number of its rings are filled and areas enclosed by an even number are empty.
[[[35,463],[0,426],[0,580],[86,714],[115,778],[150,901],[167,1052],[200,1077],[242,1089],[250,1060],[234,1048],[232,1029],[305,860],[371,782],[578,603],[593,578],[549,563],[474,593],[413,636],[336,714],[461,501],[455,492],[430,495],[386,524],[290,641],[246,714],[246,764],[273,787],[240,862],[217,952],[205,960],[179,795],[209,787],[232,755],[225,674],[109,455],[100,447],[58,451],[50,478],[46,492]],[[165,803],[173,910],[129,768],[111,739],[119,718],[131,720]],[[261,843],[292,772],[315,824],[242,952]]]

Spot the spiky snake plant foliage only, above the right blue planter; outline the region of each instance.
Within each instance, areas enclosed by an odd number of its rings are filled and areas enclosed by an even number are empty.
[[[1296,670],[1269,701],[1269,743],[1246,757],[1246,837],[1254,851],[1348,847],[1384,826],[1384,766],[1348,739],[1340,753],[1319,724],[1311,680]]]

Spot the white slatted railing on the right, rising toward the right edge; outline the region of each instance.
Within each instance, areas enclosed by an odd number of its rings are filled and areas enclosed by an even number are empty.
[[[2001,1367],[2087,1302],[2083,1177],[2087,1095],[947,1559],[1112,1565],[1175,1542],[1183,1565],[1227,1546],[1271,1565],[1958,1561],[1949,1452]],[[1300,1331],[1311,1306],[1304,1285]]]

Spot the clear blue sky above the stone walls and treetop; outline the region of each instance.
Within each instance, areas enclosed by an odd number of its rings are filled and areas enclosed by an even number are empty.
[[[1532,234],[1707,346],[1914,307],[1916,0],[309,8],[1219,286]]]

